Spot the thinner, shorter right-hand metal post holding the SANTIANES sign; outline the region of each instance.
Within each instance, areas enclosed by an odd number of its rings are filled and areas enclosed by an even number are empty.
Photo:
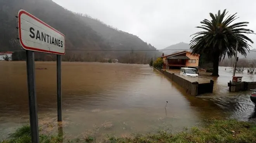
[[[61,115],[61,55],[57,55],[57,106],[58,121],[62,121]]]

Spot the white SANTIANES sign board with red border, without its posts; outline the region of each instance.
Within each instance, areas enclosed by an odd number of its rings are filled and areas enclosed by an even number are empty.
[[[65,35],[45,22],[26,12],[19,10],[19,41],[25,50],[65,54]]]

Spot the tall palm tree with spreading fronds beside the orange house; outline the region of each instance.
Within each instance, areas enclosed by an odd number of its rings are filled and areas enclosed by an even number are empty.
[[[222,13],[219,10],[218,14],[215,15],[209,13],[211,21],[204,19],[200,22],[202,25],[196,28],[204,31],[193,34],[194,37],[190,41],[192,54],[206,54],[211,57],[213,62],[212,76],[219,76],[218,66],[221,59],[223,60],[225,56],[230,58],[235,55],[237,42],[238,52],[244,56],[251,46],[247,42],[253,44],[253,41],[246,36],[247,34],[254,34],[253,30],[244,28],[249,22],[233,23],[234,20],[238,19],[237,13],[226,17],[227,13],[226,10],[223,10]]]

